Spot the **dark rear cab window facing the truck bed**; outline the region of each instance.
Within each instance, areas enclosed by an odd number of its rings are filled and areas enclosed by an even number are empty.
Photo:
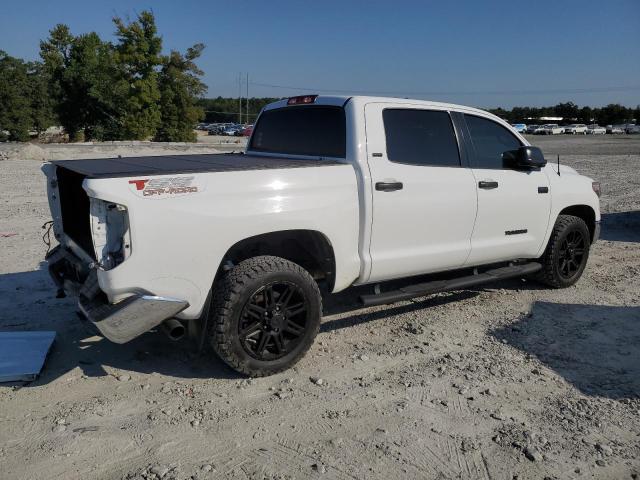
[[[288,106],[265,110],[249,150],[322,158],[346,157],[346,119],[342,107]]]

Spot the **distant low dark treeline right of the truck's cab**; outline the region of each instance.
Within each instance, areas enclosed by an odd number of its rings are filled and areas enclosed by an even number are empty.
[[[640,121],[640,105],[634,109],[613,103],[601,108],[579,107],[573,102],[567,102],[553,107],[513,107],[511,110],[493,108],[489,111],[510,123],[536,123],[535,119],[541,117],[562,117],[562,123],[597,123],[599,125]]]

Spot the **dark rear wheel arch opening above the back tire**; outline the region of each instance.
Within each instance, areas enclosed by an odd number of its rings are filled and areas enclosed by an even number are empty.
[[[222,257],[214,283],[228,265],[260,255],[273,255],[294,262],[307,270],[316,281],[326,282],[328,291],[333,290],[335,253],[327,236],[317,230],[278,230],[236,242]]]

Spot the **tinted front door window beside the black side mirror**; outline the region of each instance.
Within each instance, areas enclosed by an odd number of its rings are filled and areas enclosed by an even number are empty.
[[[473,168],[502,169],[502,154],[508,150],[516,150],[522,144],[515,135],[502,125],[482,117],[465,115],[471,142],[475,150],[472,155]]]

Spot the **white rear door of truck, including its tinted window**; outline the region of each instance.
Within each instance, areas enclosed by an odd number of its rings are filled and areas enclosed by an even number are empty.
[[[373,197],[369,281],[461,267],[477,198],[449,112],[372,103],[365,120]]]

